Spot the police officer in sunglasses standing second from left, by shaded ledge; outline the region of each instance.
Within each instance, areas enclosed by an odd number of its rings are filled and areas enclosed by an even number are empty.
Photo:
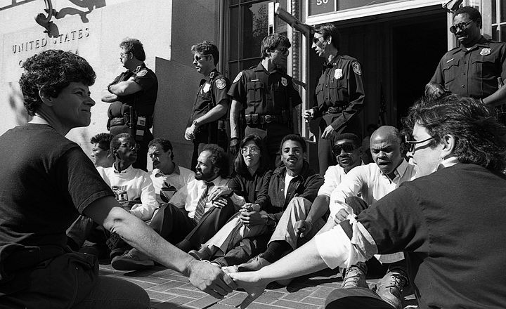
[[[230,103],[230,81],[216,70],[219,51],[216,45],[203,41],[191,48],[193,65],[204,75],[193,104],[193,112],[185,131],[186,140],[193,140],[191,168],[195,171],[197,158],[206,144],[228,146],[226,135],[226,112]]]

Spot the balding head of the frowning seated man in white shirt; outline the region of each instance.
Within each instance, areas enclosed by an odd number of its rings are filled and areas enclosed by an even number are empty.
[[[394,126],[380,126],[370,138],[372,160],[381,171],[394,179],[397,166],[403,157],[402,136]]]

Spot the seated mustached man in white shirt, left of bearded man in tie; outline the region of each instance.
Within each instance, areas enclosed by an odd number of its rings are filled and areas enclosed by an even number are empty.
[[[155,138],[148,144],[148,156],[153,161],[149,172],[157,202],[167,203],[177,190],[194,179],[195,173],[174,162],[174,150],[169,140]]]

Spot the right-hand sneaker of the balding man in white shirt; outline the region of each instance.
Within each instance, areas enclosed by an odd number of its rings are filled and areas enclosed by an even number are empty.
[[[376,283],[375,291],[385,302],[396,309],[402,309],[401,293],[408,282],[408,278],[398,272],[387,272]]]

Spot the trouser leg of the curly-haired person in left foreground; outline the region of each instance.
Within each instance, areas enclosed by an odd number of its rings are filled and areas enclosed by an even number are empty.
[[[141,309],[150,308],[148,293],[137,284],[115,277],[98,276],[95,287],[72,309]]]

